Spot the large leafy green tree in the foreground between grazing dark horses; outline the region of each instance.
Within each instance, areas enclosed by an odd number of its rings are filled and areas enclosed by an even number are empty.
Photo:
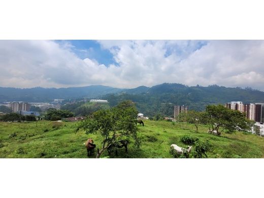
[[[140,146],[135,124],[137,115],[135,104],[125,101],[111,109],[94,112],[91,117],[80,122],[77,130],[82,128],[86,134],[98,133],[103,137],[102,148],[97,149],[96,158],[99,158],[108,147],[118,144],[122,139],[131,137]]]

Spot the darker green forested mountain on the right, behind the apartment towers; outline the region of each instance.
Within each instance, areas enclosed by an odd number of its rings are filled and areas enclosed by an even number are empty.
[[[133,92],[129,93],[129,90],[126,90],[118,94],[108,94],[105,98],[111,106],[123,100],[132,100],[138,110],[148,116],[155,114],[173,116],[174,105],[187,105],[189,109],[203,111],[209,104],[224,104],[231,101],[242,101],[244,104],[264,103],[264,92],[251,88],[227,88],[217,85],[189,87],[177,83],[163,83],[145,88],[145,92],[138,93],[141,90],[142,87],[138,87],[133,89]]]

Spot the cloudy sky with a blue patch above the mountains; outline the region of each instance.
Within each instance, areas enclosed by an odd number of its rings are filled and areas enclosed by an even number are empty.
[[[164,82],[264,91],[264,41],[0,41],[1,87]]]

